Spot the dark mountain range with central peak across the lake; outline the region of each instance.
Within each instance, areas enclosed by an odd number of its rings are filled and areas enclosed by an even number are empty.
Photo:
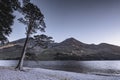
[[[0,59],[19,59],[25,39],[10,42],[0,47]],[[28,42],[26,59],[33,60],[119,60],[120,47],[101,43],[99,45],[82,43],[74,38],[68,38],[60,43],[51,43],[47,49],[34,44],[31,38]]]

